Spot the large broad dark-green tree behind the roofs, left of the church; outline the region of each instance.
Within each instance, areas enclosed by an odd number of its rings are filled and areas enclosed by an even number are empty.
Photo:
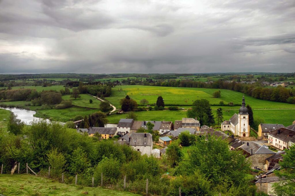
[[[201,125],[212,125],[215,123],[210,103],[207,99],[194,101],[192,109],[187,111],[187,117],[197,118]]]

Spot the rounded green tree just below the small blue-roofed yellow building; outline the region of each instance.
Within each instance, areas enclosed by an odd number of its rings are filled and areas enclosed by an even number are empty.
[[[166,149],[166,157],[171,167],[175,167],[183,159],[183,152],[177,142],[172,142]]]

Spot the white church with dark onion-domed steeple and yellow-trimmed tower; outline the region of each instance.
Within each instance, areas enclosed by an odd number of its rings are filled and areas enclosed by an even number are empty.
[[[243,96],[242,106],[240,107],[239,114],[234,114],[230,120],[225,120],[222,122],[222,131],[231,131],[232,134],[239,137],[250,136],[249,114],[245,105],[245,97]]]

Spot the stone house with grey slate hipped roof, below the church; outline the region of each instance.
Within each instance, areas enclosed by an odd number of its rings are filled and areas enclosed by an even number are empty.
[[[252,169],[259,168],[263,170],[263,166],[266,164],[266,158],[276,154],[256,142],[247,142],[236,149],[242,150],[244,155],[246,155],[246,159],[252,162]]]

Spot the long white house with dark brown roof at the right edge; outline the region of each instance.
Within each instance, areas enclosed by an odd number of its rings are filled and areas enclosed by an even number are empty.
[[[295,144],[295,131],[287,128],[279,128],[268,134],[268,144],[284,150]]]

